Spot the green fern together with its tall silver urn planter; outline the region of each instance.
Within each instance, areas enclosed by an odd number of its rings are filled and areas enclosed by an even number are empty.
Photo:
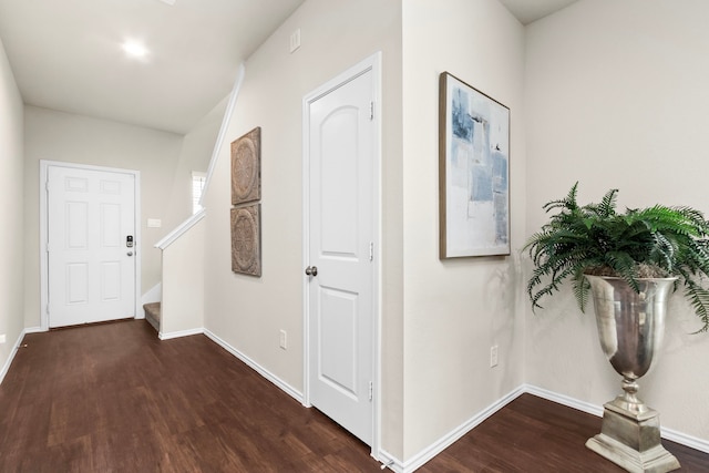
[[[654,205],[616,209],[618,189],[599,203],[578,205],[578,183],[544,205],[551,216],[532,235],[534,270],[527,282],[532,308],[571,279],[582,311],[593,295],[602,348],[623,376],[624,394],[604,405],[602,433],[586,443],[628,471],[679,467],[660,444],[659,417],[637,395],[637,379],[650,368],[664,333],[669,295],[684,295],[709,330],[709,222],[691,207]]]

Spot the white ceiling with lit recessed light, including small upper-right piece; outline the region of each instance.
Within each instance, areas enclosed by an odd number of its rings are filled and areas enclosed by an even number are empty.
[[[0,39],[24,103],[186,133],[302,1],[0,0]],[[524,24],[574,1],[501,0]]]

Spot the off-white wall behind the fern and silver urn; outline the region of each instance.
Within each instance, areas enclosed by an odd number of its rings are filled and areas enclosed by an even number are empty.
[[[709,213],[707,18],[705,0],[580,0],[528,27],[527,235],[545,223],[542,205],[576,181],[583,203],[617,187],[619,208]],[[582,315],[568,288],[543,305],[533,316],[527,304],[527,382],[612,400],[620,377],[600,351],[593,308]],[[640,398],[664,426],[709,441],[709,335],[688,335],[698,327],[676,295]]]

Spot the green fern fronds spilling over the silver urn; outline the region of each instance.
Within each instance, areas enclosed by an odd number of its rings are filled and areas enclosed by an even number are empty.
[[[636,291],[638,279],[674,278],[709,330],[709,222],[691,207],[655,205],[616,210],[618,189],[608,191],[598,204],[579,206],[578,183],[568,195],[544,205],[556,210],[523,247],[534,263],[527,282],[532,308],[559,290],[571,278],[578,307],[585,310],[590,284],[585,274],[623,278]]]

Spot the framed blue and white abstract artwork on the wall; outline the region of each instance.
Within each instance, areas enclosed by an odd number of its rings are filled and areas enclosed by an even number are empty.
[[[449,73],[441,88],[441,257],[508,255],[510,110]]]

